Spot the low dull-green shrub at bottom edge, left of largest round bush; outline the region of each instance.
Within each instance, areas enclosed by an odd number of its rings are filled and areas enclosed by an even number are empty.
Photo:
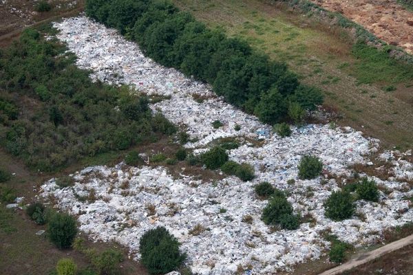
[[[90,254],[92,265],[98,274],[115,274],[119,270],[119,263],[123,261],[123,254],[118,250],[109,248],[103,252]]]

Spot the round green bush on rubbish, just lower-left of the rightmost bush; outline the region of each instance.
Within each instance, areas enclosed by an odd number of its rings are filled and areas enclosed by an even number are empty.
[[[352,217],[355,206],[350,193],[345,191],[332,192],[324,202],[326,217],[333,221],[343,221]]]

